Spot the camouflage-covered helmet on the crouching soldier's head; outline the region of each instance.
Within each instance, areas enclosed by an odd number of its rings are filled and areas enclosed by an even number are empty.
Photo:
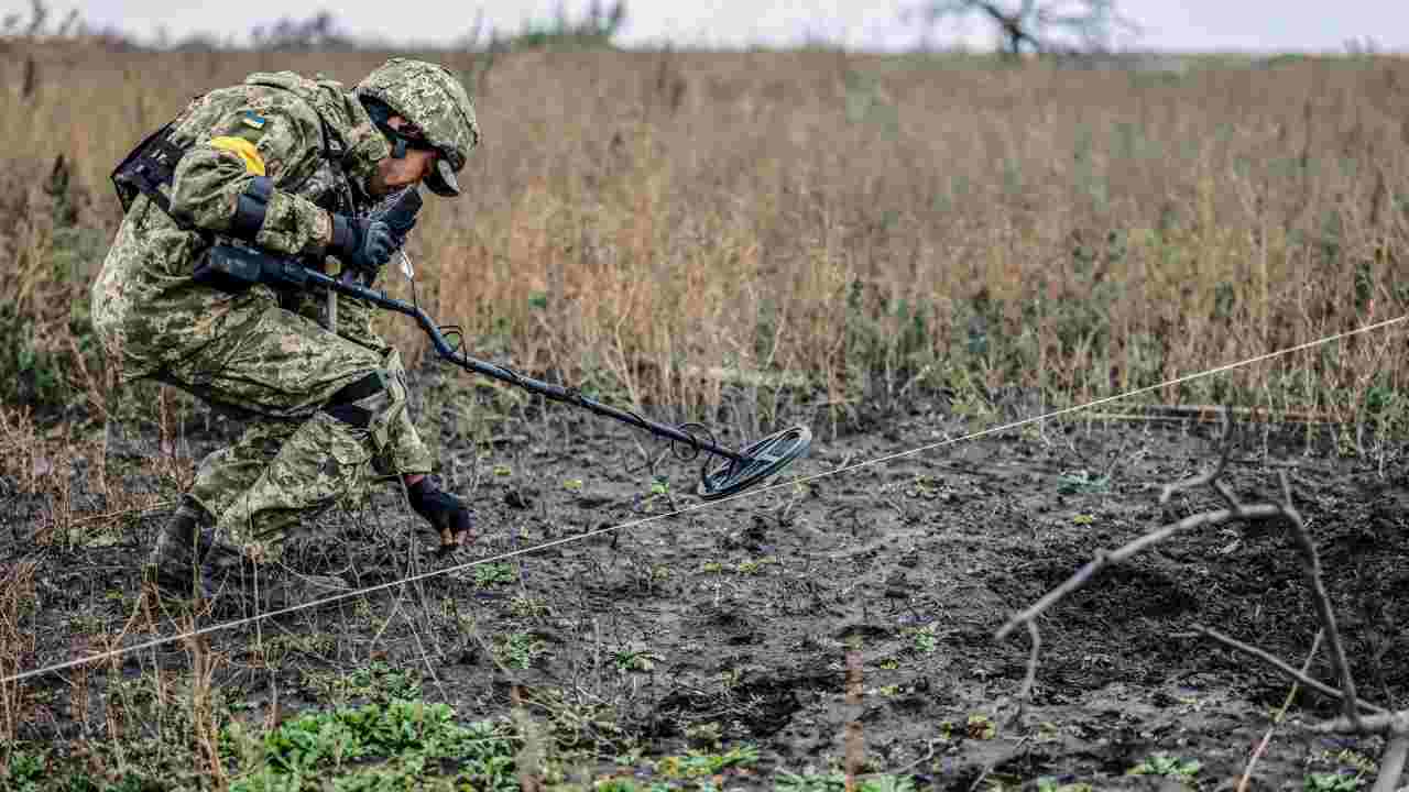
[[[355,93],[359,99],[386,104],[414,124],[430,148],[440,152],[426,186],[435,194],[459,194],[455,173],[479,144],[479,124],[475,121],[475,104],[449,69],[426,61],[392,58],[358,83]]]

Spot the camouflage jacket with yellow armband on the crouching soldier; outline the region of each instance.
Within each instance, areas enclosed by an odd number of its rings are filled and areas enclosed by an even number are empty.
[[[328,211],[358,213],[376,162],[390,154],[362,104],[333,80],[293,72],[255,73],[240,86],[194,99],[173,123],[186,148],[170,187],[172,216],[145,196],[132,203],[93,283],[93,318],[123,378],[178,362],[247,316],[251,297],[280,299],[266,286],[231,296],[192,282],[213,234],[230,228],[235,203],[256,175],[275,193],[255,244],[321,266]],[[283,295],[283,304],[317,318],[323,295]],[[338,331],[385,347],[371,331],[371,307],[340,302]]]

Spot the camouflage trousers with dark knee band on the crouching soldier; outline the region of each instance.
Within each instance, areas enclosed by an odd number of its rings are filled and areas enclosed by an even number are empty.
[[[406,372],[396,349],[323,330],[269,300],[155,379],[247,421],[234,445],[207,455],[187,493],[216,519],[220,541],[255,559],[276,559],[290,536],[354,495],[375,474],[426,474],[431,455],[411,424]],[[359,402],[359,427],[324,412],[342,388],[380,373],[385,390]]]

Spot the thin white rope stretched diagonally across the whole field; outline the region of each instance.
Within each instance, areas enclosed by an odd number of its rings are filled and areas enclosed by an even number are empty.
[[[23,674],[14,674],[11,676],[6,676],[6,678],[0,679],[0,683],[21,682],[24,679],[30,679],[32,676],[41,676],[44,674],[52,674],[55,671],[66,671],[69,668],[77,668],[79,665],[87,665],[90,662],[101,662],[101,661],[106,661],[106,660],[113,660],[113,658],[117,658],[117,657],[121,657],[121,655],[125,655],[125,654],[131,654],[131,652],[135,652],[135,651],[144,651],[144,650],[155,648],[155,647],[170,644],[170,643],[176,643],[176,641],[185,641],[187,638],[196,638],[196,637],[200,637],[200,636],[209,636],[211,633],[218,633],[218,631],[223,631],[223,630],[232,630],[235,627],[242,627],[245,624],[252,624],[252,623],[261,621],[263,619],[273,619],[275,616],[287,616],[290,613],[297,613],[300,610],[307,610],[307,609],[311,609],[311,607],[323,607],[325,605],[331,605],[334,602],[341,602],[344,599],[349,599],[349,598],[355,598],[355,596],[365,596],[365,595],[376,593],[376,592],[386,590],[386,589],[390,589],[390,588],[404,586],[404,585],[409,585],[409,583],[416,583],[416,582],[420,582],[420,581],[424,581],[424,579],[428,579],[428,578],[435,578],[435,576],[440,576],[440,575],[449,575],[452,572],[462,572],[465,569],[471,569],[473,567],[479,567],[479,565],[483,565],[483,564],[495,564],[495,562],[499,562],[499,561],[506,561],[509,558],[517,558],[520,555],[528,555],[531,552],[538,552],[541,550],[548,550],[548,548],[552,548],[552,547],[559,547],[559,545],[564,545],[564,544],[568,544],[568,543],[573,543],[573,541],[582,541],[582,540],[586,540],[586,538],[592,538],[592,537],[596,537],[596,536],[607,534],[607,533],[617,531],[617,530],[621,530],[621,528],[631,528],[631,527],[635,527],[635,526],[644,526],[647,523],[654,523],[657,520],[664,520],[666,517],[675,517],[678,514],[685,514],[685,513],[689,513],[689,512],[696,512],[696,510],[706,509],[706,507],[710,507],[710,506],[716,506],[716,505],[720,505],[720,503],[728,503],[730,500],[738,500],[738,499],[743,499],[743,497],[752,497],[755,495],[762,495],[764,492],[769,492],[769,490],[774,490],[774,489],[786,488],[786,486],[795,486],[795,485],[799,485],[799,483],[806,483],[806,482],[810,482],[810,481],[817,481],[817,479],[821,479],[821,478],[834,476],[837,474],[851,472],[851,471],[857,471],[857,469],[861,469],[861,468],[868,468],[868,466],[872,466],[872,465],[879,465],[882,462],[890,462],[893,459],[900,459],[900,458],[905,458],[905,457],[913,457],[916,454],[923,454],[926,451],[933,451],[936,448],[941,448],[941,447],[945,447],[945,445],[954,445],[954,444],[964,443],[964,441],[968,441],[968,440],[976,440],[979,437],[986,437],[989,434],[998,434],[998,433],[1002,433],[1002,431],[1009,431],[1009,430],[1019,428],[1019,427],[1023,427],[1023,426],[1027,426],[1027,424],[1033,424],[1033,423],[1038,423],[1038,421],[1045,421],[1045,420],[1050,420],[1050,419],[1055,419],[1055,417],[1065,416],[1065,414],[1069,414],[1069,413],[1075,413],[1075,412],[1079,412],[1079,410],[1086,410],[1086,409],[1096,407],[1096,406],[1100,406],[1100,404],[1107,404],[1107,403],[1116,402],[1119,399],[1129,399],[1130,396],[1138,396],[1141,393],[1148,393],[1151,390],[1158,390],[1161,388],[1168,388],[1171,385],[1181,385],[1184,382],[1191,382],[1191,380],[1200,379],[1200,378],[1205,378],[1205,376],[1212,376],[1215,373],[1222,373],[1222,372],[1226,372],[1226,371],[1231,371],[1231,369],[1236,369],[1236,368],[1253,365],[1253,364],[1268,361],[1268,359],[1272,359],[1272,358],[1279,358],[1279,357],[1289,355],[1289,354],[1293,354],[1293,352],[1301,352],[1303,349],[1310,349],[1313,347],[1320,347],[1323,344],[1330,344],[1333,341],[1340,341],[1340,340],[1348,338],[1351,335],[1358,335],[1358,334],[1363,334],[1363,333],[1371,333],[1374,330],[1381,330],[1381,328],[1385,328],[1385,327],[1389,327],[1389,326],[1394,326],[1394,324],[1399,324],[1399,323],[1406,321],[1406,320],[1409,320],[1409,314],[1401,316],[1398,318],[1388,318],[1388,320],[1384,320],[1384,321],[1377,321],[1374,324],[1367,324],[1364,327],[1358,327],[1355,330],[1348,330],[1346,333],[1337,333],[1334,335],[1327,335],[1327,337],[1319,338],[1316,341],[1308,341],[1305,344],[1298,344],[1296,347],[1288,347],[1285,349],[1278,349],[1275,352],[1267,352],[1265,355],[1258,355],[1255,358],[1248,358],[1246,361],[1239,361],[1236,364],[1224,364],[1222,366],[1210,368],[1210,369],[1206,369],[1206,371],[1200,371],[1198,373],[1189,373],[1189,375],[1185,375],[1185,376],[1178,376],[1175,379],[1169,379],[1167,382],[1161,382],[1160,385],[1150,385],[1150,386],[1146,386],[1146,388],[1138,388],[1136,390],[1129,390],[1126,393],[1117,393],[1115,396],[1106,396],[1103,399],[1096,399],[1095,402],[1088,402],[1085,404],[1076,404],[1076,406],[1072,406],[1072,407],[1064,407],[1061,410],[1053,410],[1053,412],[1044,413],[1041,416],[1036,416],[1036,417],[1030,417],[1030,419],[1023,419],[1023,420],[1019,420],[1019,421],[1012,421],[1012,423],[1006,423],[1006,424],[996,426],[996,427],[989,427],[989,428],[979,430],[979,431],[975,431],[975,433],[969,433],[969,434],[965,434],[965,435],[961,435],[961,437],[941,440],[938,443],[931,443],[929,445],[921,445],[919,448],[912,448],[909,451],[902,451],[899,454],[890,454],[890,455],[886,455],[886,457],[879,457],[876,459],[869,459],[869,461],[865,461],[865,462],[857,462],[855,465],[848,465],[848,466],[837,468],[837,469],[827,471],[827,472],[823,472],[823,474],[816,474],[816,475],[812,475],[812,476],[793,478],[793,479],[790,479],[788,482],[774,483],[774,485],[769,485],[769,486],[765,486],[765,488],[759,488],[759,489],[751,489],[751,490],[747,490],[747,492],[741,492],[738,495],[731,495],[728,497],[720,497],[717,500],[706,500],[706,502],[695,503],[692,506],[686,506],[685,509],[678,509],[675,512],[668,512],[668,513],[662,513],[662,514],[652,514],[650,517],[641,517],[640,520],[631,520],[631,521],[621,523],[621,524],[617,524],[617,526],[607,526],[607,527],[596,528],[596,530],[592,530],[592,531],[588,531],[588,533],[583,533],[583,534],[576,534],[576,536],[564,537],[564,538],[558,538],[558,540],[552,540],[552,541],[545,541],[542,544],[535,544],[533,547],[524,547],[524,548],[514,550],[514,551],[510,551],[510,552],[503,552],[503,554],[499,554],[499,555],[492,555],[489,558],[479,558],[476,561],[469,561],[469,562],[465,562],[465,564],[458,564],[455,567],[447,567],[444,569],[434,569],[434,571],[430,571],[430,572],[421,572],[418,575],[411,575],[411,576],[407,576],[407,578],[392,581],[389,583],[379,583],[379,585],[368,586],[368,588],[364,588],[364,589],[348,590],[348,592],[342,592],[342,593],[338,593],[338,595],[334,595],[334,596],[328,596],[328,598],[324,598],[324,599],[317,599],[317,600],[313,600],[313,602],[306,602],[306,603],[294,605],[294,606],[290,606],[290,607],[285,607],[285,609],[280,609],[280,610],[271,610],[268,613],[256,613],[255,616],[247,616],[244,619],[235,619],[232,621],[223,621],[220,624],[211,624],[210,627],[201,627],[200,630],[192,630],[189,633],[182,633],[182,634],[178,634],[178,636],[168,636],[168,637],[163,637],[163,638],[154,638],[154,640],[142,641],[139,644],[132,644],[132,645],[128,645],[128,647],[121,647],[121,648],[110,650],[110,651],[106,651],[106,652],[97,652],[97,654],[92,654],[92,655],[87,655],[87,657],[77,658],[77,660],[70,660],[70,661],[66,661],[66,662],[59,662],[59,664],[55,664],[55,665],[46,665],[44,668],[37,668],[34,671],[25,671]]]

